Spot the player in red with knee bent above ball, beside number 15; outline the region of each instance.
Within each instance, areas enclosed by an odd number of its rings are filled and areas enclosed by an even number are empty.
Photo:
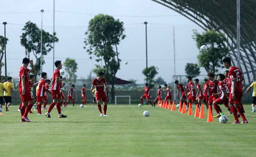
[[[213,93],[213,95],[221,95],[221,97],[218,97],[216,100],[213,101],[213,105],[216,104],[224,104],[224,106],[227,108],[228,111],[230,111],[230,108],[228,107],[228,99],[229,99],[229,89],[227,84],[224,82],[225,75],[224,74],[218,74],[217,80],[219,81],[218,87],[220,89],[220,92],[218,93]],[[217,113],[220,117],[221,113]]]

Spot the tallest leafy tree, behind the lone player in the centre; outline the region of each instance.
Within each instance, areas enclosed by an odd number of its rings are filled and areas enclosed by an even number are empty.
[[[99,14],[89,21],[85,35],[85,47],[90,59],[95,57],[99,63],[103,61],[103,67],[95,65],[93,72],[105,73],[105,78],[111,84],[111,99],[114,98],[114,84],[116,72],[120,69],[119,51],[117,45],[125,38],[123,22],[115,20],[112,16]],[[93,56],[93,57],[92,57]],[[107,89],[107,95],[109,91]]]

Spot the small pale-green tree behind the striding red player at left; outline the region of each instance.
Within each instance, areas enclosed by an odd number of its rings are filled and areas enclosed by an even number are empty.
[[[76,83],[76,70],[77,68],[77,63],[76,60],[71,59],[71,58],[66,58],[64,62],[65,66],[65,71],[66,71],[66,76],[67,76],[67,83],[69,83],[70,87],[72,84]]]

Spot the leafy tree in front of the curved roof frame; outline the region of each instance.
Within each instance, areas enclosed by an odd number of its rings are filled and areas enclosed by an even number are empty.
[[[221,60],[228,53],[228,48],[225,45],[227,43],[227,38],[222,33],[210,30],[205,33],[198,33],[193,30],[193,39],[196,41],[196,45],[200,50],[202,45],[208,47],[206,52],[199,52],[197,58],[200,67],[204,67],[207,71],[217,73],[218,69],[222,67]]]

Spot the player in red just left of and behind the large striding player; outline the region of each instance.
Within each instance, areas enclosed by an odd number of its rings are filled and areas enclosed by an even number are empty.
[[[45,88],[45,80],[47,79],[47,73],[42,72],[41,73],[41,80],[38,82],[38,91],[36,93],[36,101],[38,102],[37,108],[38,108],[38,115],[44,115],[41,112],[41,107],[43,103],[43,98],[44,98],[44,92],[49,92],[48,89]]]

